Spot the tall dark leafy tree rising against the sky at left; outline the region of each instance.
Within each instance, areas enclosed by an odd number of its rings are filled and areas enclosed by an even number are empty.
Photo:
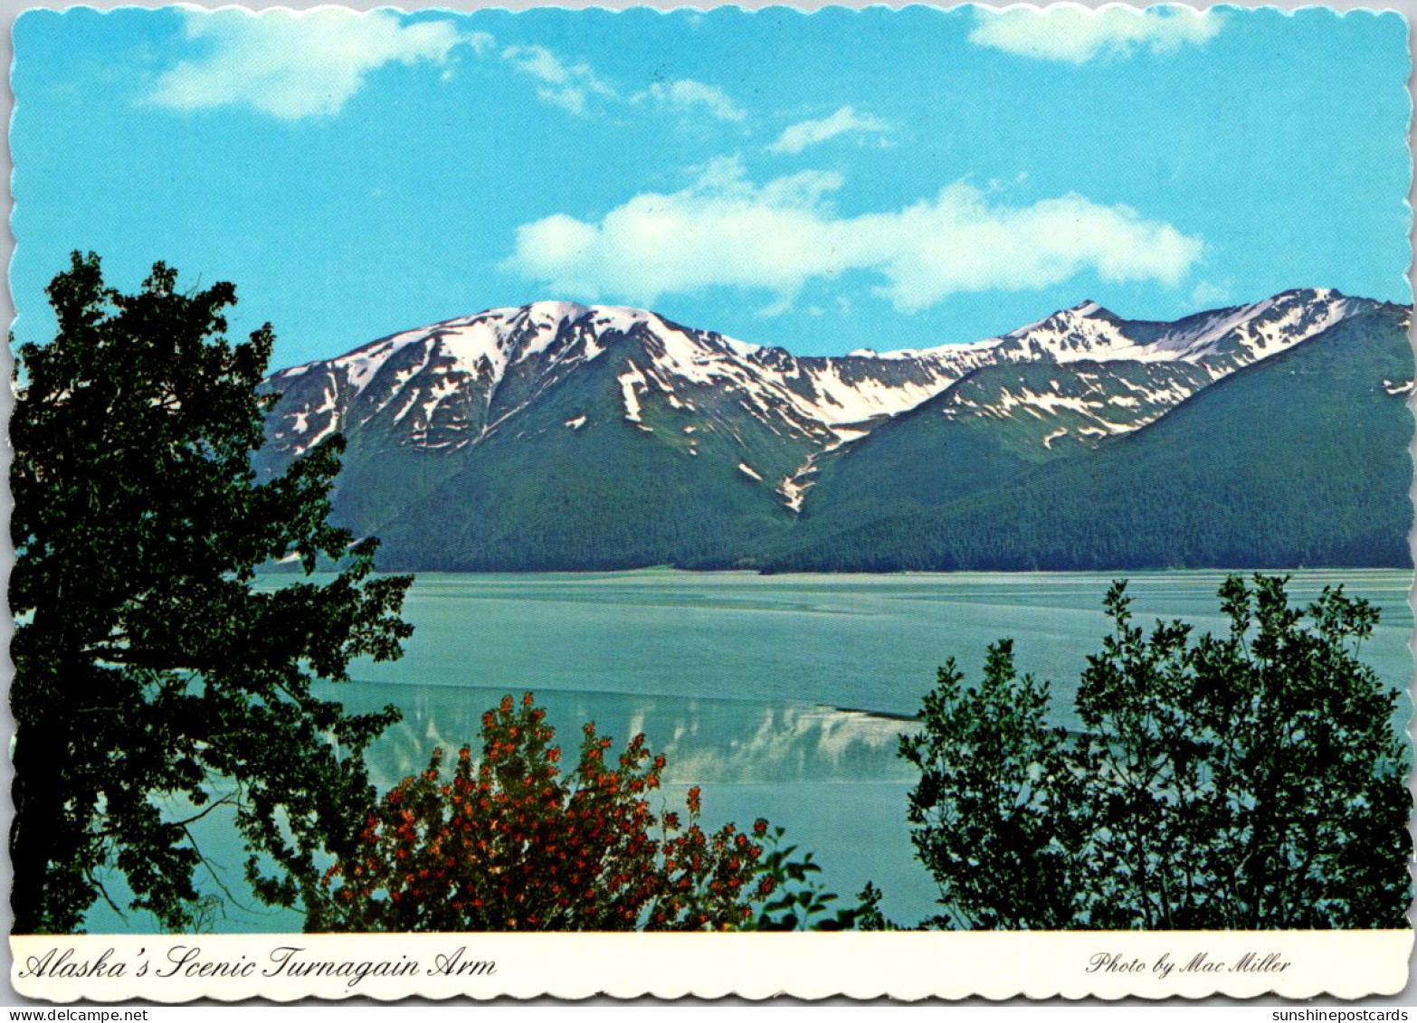
[[[361,751],[397,716],[316,694],[411,633],[408,580],[371,578],[376,541],[326,521],[340,439],[258,485],[272,332],[230,343],[232,286],[176,281],[159,264],[123,295],[75,254],[48,288],[54,340],[17,353],[17,932],[77,929],[113,869],[132,908],[190,924],[190,825],[218,803],[234,806],[256,893],[293,903],[363,818]],[[310,574],[320,555],[344,565],[323,585],[256,585],[262,564],[293,557]]]

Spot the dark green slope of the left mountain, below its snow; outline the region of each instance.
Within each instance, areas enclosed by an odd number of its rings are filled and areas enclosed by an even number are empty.
[[[655,398],[645,401],[643,422],[631,422],[616,380],[623,366],[587,366],[574,384],[463,452],[456,475],[377,524],[380,567],[699,567],[784,534],[791,514],[764,465],[784,462],[771,443],[781,439],[765,428],[760,436],[755,421],[734,424],[738,436],[730,435],[701,405],[686,434],[677,409]],[[765,482],[737,468],[745,458],[758,459]]]

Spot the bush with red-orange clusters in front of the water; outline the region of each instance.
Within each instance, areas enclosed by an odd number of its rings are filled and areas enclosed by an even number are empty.
[[[656,812],[665,757],[636,735],[614,762],[585,725],[575,767],[531,694],[482,718],[482,757],[463,747],[394,786],[359,852],[326,871],[312,931],[693,931],[791,928],[833,897],[803,884],[811,856],[779,847],[767,820],[748,832]],[[849,925],[852,911],[837,914]]]

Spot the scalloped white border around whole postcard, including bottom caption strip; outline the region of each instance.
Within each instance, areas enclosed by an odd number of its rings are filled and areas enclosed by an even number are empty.
[[[0,11],[13,27],[14,18],[30,9],[113,10],[118,7],[201,7],[208,10],[244,7],[266,10],[282,7],[309,11],[343,7],[356,11],[470,11],[527,9],[629,10],[652,9],[738,10],[795,9],[812,13],[823,9],[864,7],[1073,7],[1105,10],[1108,7],[1186,6],[1193,9],[1227,7],[1236,10],[1295,10],[1323,7],[1338,14],[1349,11],[1396,11],[1408,23],[1408,51],[1414,40],[1417,0],[1329,0],[1329,3],[928,3],[922,0],[737,0],[735,3],[686,3],[682,0],[285,0],[264,3],[167,3],[166,0],[89,0],[84,4],[60,1],[28,3],[0,0]],[[9,31],[4,51],[13,60]],[[1417,67],[1417,61],[1413,61]],[[1408,68],[1410,75],[1413,68]],[[1408,79],[1408,92],[1413,82]],[[10,96],[13,112],[13,95]],[[1408,126],[1410,130],[1410,126]],[[9,152],[4,154],[9,162]],[[7,187],[6,181],[6,187]],[[1417,188],[1417,181],[1413,183]],[[11,205],[13,208],[13,205]],[[1406,211],[1410,215],[1411,201]],[[7,237],[13,252],[13,237]],[[1407,268],[1411,275],[1411,268]],[[7,283],[7,282],[6,282]],[[13,305],[9,289],[0,292],[0,312]],[[9,354],[4,356],[9,358]],[[13,364],[11,364],[13,368]],[[9,388],[0,388],[0,412],[11,408]],[[1417,443],[1414,443],[1417,449]],[[0,463],[7,462],[0,456]],[[1417,493],[1417,483],[1414,483]],[[1417,550],[1417,531],[1413,536]],[[9,568],[11,553],[0,553]],[[1414,585],[1417,591],[1417,585]],[[9,645],[9,622],[0,618],[0,639]],[[1417,684],[1414,684],[1417,696]],[[9,706],[0,706],[0,727],[13,730]],[[0,784],[9,789],[13,769],[0,758]],[[1410,781],[1417,792],[1417,779]],[[0,827],[9,830],[10,801],[0,799]],[[0,887],[9,888],[9,861],[0,861]],[[7,900],[0,900],[0,917],[9,922]],[[300,948],[305,961],[366,962],[417,961],[417,972],[393,978],[366,976],[350,985],[341,978],[265,976],[273,968],[271,952]],[[159,976],[171,969],[171,959],[198,948],[198,962],[251,963],[249,976]],[[472,976],[436,973],[438,956],[456,949],[465,956],[492,961],[496,972]],[[31,956],[43,958],[51,949],[69,949],[69,962],[94,962],[112,949],[108,963],[125,962],[122,976],[37,976],[30,969]],[[499,997],[585,999],[597,995],[614,999],[652,996],[659,999],[738,996],[769,999],[791,995],[802,999],[876,999],[920,1000],[927,997],[965,999],[1380,999],[1400,996],[1411,980],[1414,951],[1413,931],[1267,931],[1267,932],[908,932],[908,934],[466,934],[466,935],[72,935],[10,938],[9,982],[18,999],[6,1003],[38,1000],[43,1003],[130,1002],[181,1003],[197,999],[239,1002],[269,999],[289,1003],[302,999],[341,1000],[374,999],[393,1002],[407,997],[476,999]],[[1204,952],[1214,963],[1229,965],[1247,952],[1258,958],[1275,954],[1289,965],[1281,972],[1180,972],[1180,966]],[[1114,955],[1121,962],[1139,962],[1139,972],[1090,969],[1093,956]],[[1175,968],[1166,976],[1155,965],[1166,956]],[[146,976],[136,976],[142,963]],[[429,973],[432,969],[435,972]],[[1268,997],[1267,997],[1268,996]],[[1417,1005],[1401,999],[1396,1005]]]

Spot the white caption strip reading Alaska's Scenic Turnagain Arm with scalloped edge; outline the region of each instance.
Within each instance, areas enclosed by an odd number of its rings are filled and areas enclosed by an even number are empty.
[[[1403,990],[1413,941],[1411,931],[27,935],[10,939],[10,979],[21,995],[52,1002],[577,999],[598,993],[662,999],[888,995],[907,1000],[1216,993],[1306,999],[1329,993],[1356,999]],[[45,961],[52,968],[65,951],[69,968],[103,963],[109,975],[47,972]],[[1234,969],[1247,954],[1253,963],[1285,965]],[[1186,969],[1196,956],[1204,956],[1210,969]],[[333,976],[290,976],[282,965],[286,961],[330,963]],[[376,962],[391,963],[397,975],[377,976],[360,966]],[[448,975],[439,971],[448,962],[480,966]],[[1172,963],[1165,975],[1158,969],[1162,962]],[[113,976],[118,966],[122,973]]]

